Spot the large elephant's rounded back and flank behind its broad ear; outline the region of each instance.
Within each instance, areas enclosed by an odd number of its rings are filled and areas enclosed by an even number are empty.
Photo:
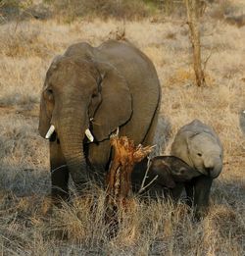
[[[121,134],[132,138],[135,144],[153,144],[161,105],[161,86],[153,63],[126,41],[109,40],[100,45],[94,55],[95,59],[116,68],[128,84],[133,113]]]

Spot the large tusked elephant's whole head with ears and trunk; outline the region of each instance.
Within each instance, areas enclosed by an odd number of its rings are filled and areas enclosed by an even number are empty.
[[[79,185],[88,179],[84,143],[108,138],[130,119],[131,112],[129,88],[114,67],[64,55],[53,61],[46,74],[38,129],[43,137],[60,143],[73,181]]]

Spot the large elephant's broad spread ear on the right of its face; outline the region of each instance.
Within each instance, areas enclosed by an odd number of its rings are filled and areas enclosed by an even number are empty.
[[[132,98],[125,78],[116,68],[105,63],[96,65],[102,77],[102,102],[94,115],[93,133],[97,141],[102,141],[130,119]]]

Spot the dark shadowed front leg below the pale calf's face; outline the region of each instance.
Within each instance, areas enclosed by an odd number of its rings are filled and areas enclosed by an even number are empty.
[[[207,176],[200,176],[194,179],[194,202],[195,218],[202,218],[208,210],[210,190],[213,179]]]

